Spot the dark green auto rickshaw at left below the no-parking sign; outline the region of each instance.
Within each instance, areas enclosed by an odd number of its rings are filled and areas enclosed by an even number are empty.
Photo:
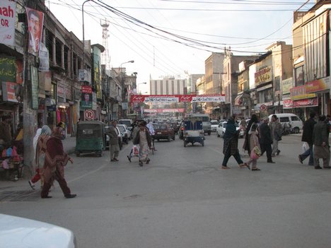
[[[105,124],[100,121],[84,121],[77,124],[77,157],[81,153],[95,153],[102,156],[105,150]]]

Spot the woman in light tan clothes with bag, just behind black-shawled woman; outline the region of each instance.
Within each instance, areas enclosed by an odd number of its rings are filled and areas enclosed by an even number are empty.
[[[250,154],[250,160],[248,160],[248,162],[246,162],[245,165],[248,168],[250,168],[250,163],[252,163],[252,171],[260,170],[259,168],[256,167],[258,157],[255,155],[251,156],[252,153],[256,153],[255,149],[258,148],[257,150],[261,150],[257,122],[258,120],[256,114],[252,114],[252,118],[248,123],[248,127],[250,129],[247,129],[248,131],[246,133],[246,135],[248,136],[248,148],[250,149],[248,150],[248,153]]]

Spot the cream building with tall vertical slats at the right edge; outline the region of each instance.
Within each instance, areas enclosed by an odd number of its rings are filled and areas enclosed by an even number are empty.
[[[294,13],[294,87],[286,107],[301,119],[309,112],[331,113],[330,6],[331,1],[315,1],[309,11]]]

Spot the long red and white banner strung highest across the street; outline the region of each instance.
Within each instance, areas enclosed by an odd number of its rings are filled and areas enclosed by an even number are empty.
[[[225,95],[131,95],[130,101],[156,104],[176,102],[224,102]]]

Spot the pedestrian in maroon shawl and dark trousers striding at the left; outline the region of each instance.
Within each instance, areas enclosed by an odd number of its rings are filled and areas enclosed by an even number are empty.
[[[46,153],[45,153],[45,164],[44,171],[42,172],[45,182],[42,187],[41,197],[51,198],[48,193],[50,187],[54,180],[59,182],[63,194],[66,198],[74,198],[76,194],[71,194],[69,187],[64,179],[64,166],[68,161],[74,163],[74,160],[69,157],[68,154],[64,153],[62,144],[62,127],[55,127],[52,136],[48,139],[46,143]]]

